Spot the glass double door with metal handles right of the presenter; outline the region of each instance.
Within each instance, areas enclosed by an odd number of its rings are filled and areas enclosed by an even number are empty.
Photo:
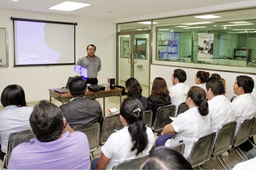
[[[117,84],[125,86],[134,77],[149,96],[150,31],[117,33]]]

